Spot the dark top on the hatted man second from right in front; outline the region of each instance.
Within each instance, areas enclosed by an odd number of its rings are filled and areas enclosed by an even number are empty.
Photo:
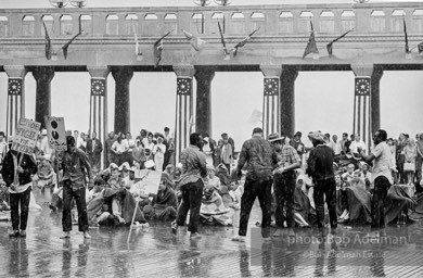
[[[322,181],[334,178],[333,173],[333,157],[335,153],[325,146],[319,144],[310,151],[308,157],[307,174],[313,178],[315,181]]]

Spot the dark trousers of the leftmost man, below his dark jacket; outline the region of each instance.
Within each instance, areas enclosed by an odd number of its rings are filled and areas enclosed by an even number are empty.
[[[10,194],[10,217],[12,218],[13,230],[26,230],[26,224],[28,223],[30,200],[30,187],[22,193]],[[20,217],[20,204],[21,204],[21,217]],[[20,227],[21,220],[21,227]]]

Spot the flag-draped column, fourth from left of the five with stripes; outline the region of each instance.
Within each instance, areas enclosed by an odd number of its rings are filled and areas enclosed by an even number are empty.
[[[280,83],[282,75],[281,65],[260,65],[264,78],[262,99],[262,131],[265,137],[280,132],[281,103]]]

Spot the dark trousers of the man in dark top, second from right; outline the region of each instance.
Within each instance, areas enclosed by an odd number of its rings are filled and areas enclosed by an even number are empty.
[[[315,192],[312,194],[316,204],[317,224],[318,227],[324,227],[324,195],[329,210],[329,220],[332,228],[337,226],[336,216],[336,184],[335,178],[320,180],[316,182]]]

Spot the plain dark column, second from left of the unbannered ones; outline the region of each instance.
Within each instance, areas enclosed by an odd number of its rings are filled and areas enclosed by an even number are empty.
[[[116,81],[115,94],[115,132],[130,132],[129,84],[133,76],[130,66],[118,66],[112,70]]]

